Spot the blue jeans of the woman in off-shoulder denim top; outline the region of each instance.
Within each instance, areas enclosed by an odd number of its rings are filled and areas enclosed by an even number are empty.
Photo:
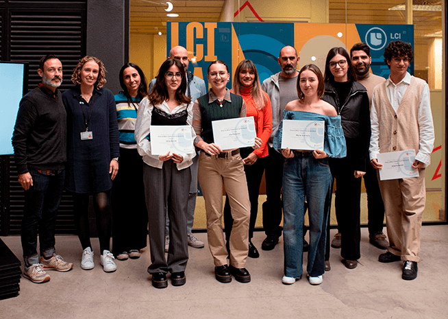
[[[310,276],[325,272],[327,212],[331,198],[332,174],[327,158],[316,159],[312,152],[295,152],[283,170],[284,274],[299,278],[303,263],[303,219],[305,199],[310,219],[310,248],[307,271]]]

